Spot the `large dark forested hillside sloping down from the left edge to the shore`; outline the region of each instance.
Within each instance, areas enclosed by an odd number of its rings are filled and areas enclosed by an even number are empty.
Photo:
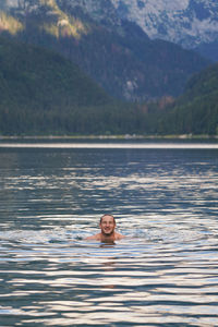
[[[0,135],[141,133],[146,112],[114,101],[71,61],[0,37]]]

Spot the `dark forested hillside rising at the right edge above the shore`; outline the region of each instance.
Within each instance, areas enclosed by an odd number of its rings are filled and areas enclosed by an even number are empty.
[[[218,134],[218,63],[195,74],[186,89],[160,118],[164,134]]]

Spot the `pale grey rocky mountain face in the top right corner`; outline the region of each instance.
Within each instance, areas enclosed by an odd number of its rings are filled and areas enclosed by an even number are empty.
[[[187,49],[218,43],[217,0],[111,0],[118,14],[135,22],[152,39],[165,39]],[[203,53],[218,61],[218,51]]]

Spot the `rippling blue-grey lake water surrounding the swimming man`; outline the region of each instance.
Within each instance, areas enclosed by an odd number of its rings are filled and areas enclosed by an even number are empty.
[[[1,141],[0,326],[218,326],[218,142]]]

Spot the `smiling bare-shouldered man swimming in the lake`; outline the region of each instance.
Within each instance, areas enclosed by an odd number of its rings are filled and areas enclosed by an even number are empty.
[[[96,240],[100,242],[114,242],[125,237],[116,232],[116,219],[112,215],[104,215],[99,222],[100,233],[86,238],[86,240]]]

